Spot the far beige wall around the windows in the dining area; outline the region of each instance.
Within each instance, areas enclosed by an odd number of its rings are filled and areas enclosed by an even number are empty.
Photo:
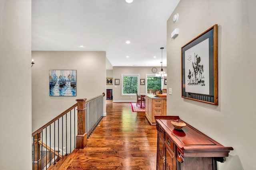
[[[161,67],[156,67],[158,71]],[[166,67],[163,67],[166,71]],[[166,71],[168,74],[168,72]],[[146,74],[154,74],[152,72],[152,67],[113,67],[113,80],[115,78],[120,79],[120,85],[113,85],[113,102],[136,102],[136,96],[121,96],[122,94],[122,74],[139,74],[139,79],[146,79]],[[164,86],[166,88],[166,86]],[[146,85],[140,85],[139,80],[139,93],[146,93]]]

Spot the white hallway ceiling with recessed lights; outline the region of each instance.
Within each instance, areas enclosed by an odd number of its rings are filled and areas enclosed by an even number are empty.
[[[164,47],[166,66],[166,23],[178,2],[32,0],[32,51],[106,51],[112,66],[161,66]]]

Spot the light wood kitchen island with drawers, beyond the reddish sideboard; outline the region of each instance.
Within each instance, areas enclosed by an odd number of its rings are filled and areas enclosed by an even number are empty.
[[[151,125],[155,125],[156,121],[154,116],[166,115],[166,98],[158,98],[154,95],[146,95],[146,118]]]

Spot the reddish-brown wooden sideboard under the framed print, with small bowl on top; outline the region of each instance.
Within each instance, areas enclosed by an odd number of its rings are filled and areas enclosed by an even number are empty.
[[[225,162],[232,147],[224,147],[186,123],[176,130],[172,120],[178,116],[155,116],[157,139],[157,170],[217,170],[216,161]]]

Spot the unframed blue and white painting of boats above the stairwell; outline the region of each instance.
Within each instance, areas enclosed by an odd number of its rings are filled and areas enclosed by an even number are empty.
[[[76,96],[76,70],[49,70],[50,96]]]

